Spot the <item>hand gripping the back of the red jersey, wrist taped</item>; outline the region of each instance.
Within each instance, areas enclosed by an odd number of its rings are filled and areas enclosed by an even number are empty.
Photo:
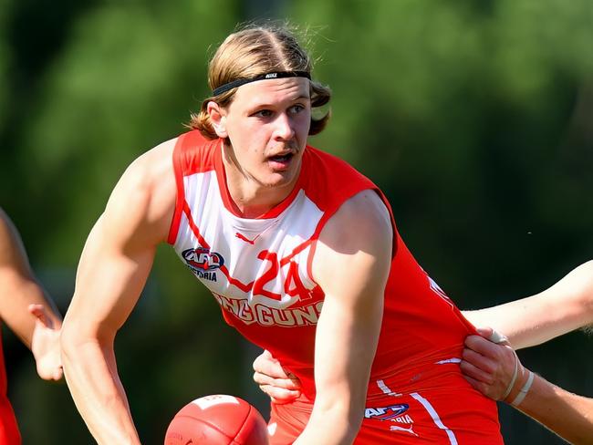
[[[505,336],[497,335],[490,327],[478,328],[478,333],[480,336],[465,338],[460,364],[463,377],[473,388],[494,400],[514,396],[515,388],[525,380],[525,368]]]

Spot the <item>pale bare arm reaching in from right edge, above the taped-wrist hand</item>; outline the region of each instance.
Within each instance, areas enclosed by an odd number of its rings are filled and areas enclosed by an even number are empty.
[[[593,261],[579,265],[540,294],[463,315],[491,326],[515,349],[532,347],[593,323]]]

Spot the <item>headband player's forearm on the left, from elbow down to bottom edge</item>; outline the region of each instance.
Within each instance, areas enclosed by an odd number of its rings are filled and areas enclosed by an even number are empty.
[[[112,344],[62,338],[62,364],[68,388],[88,430],[99,445],[140,444],[125,391],[117,374]]]

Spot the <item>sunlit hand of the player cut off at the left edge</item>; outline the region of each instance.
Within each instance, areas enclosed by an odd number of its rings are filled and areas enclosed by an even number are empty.
[[[29,305],[28,310],[36,317],[31,352],[35,357],[37,374],[45,380],[59,380],[64,373],[59,350],[61,330],[53,326],[44,305]]]

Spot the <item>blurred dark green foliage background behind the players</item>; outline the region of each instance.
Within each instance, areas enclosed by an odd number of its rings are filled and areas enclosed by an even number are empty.
[[[2,0],[0,205],[63,312],[121,173],[183,131],[224,36],[267,16],[307,31],[314,75],[334,91],[332,121],[311,143],[380,185],[406,243],[458,305],[536,293],[590,258],[589,0]],[[91,443],[66,386],[37,381],[30,357],[6,342],[25,443]],[[116,347],[144,443],[161,443],[174,412],[204,394],[265,411],[249,383],[257,351],[224,327],[167,246]],[[521,357],[593,396],[591,350],[575,333]],[[501,413],[506,443],[555,443]]]

